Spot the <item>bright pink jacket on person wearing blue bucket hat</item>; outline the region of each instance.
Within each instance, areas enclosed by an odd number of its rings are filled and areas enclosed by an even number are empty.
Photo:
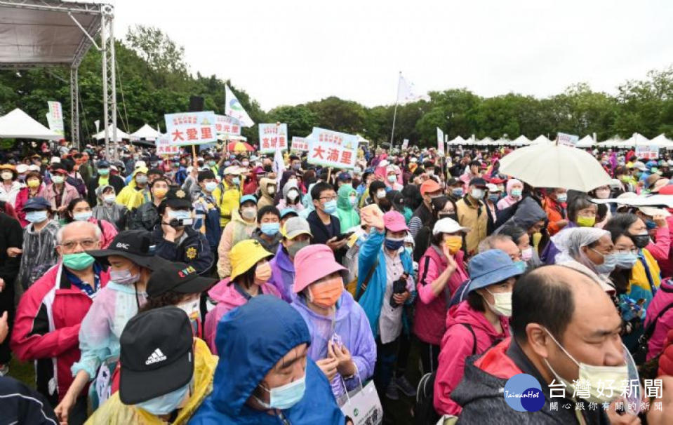
[[[463,325],[469,325],[472,332]],[[467,301],[451,307],[446,315],[446,333],[441,339],[439,352],[439,367],[434,379],[434,410],[439,414],[453,414],[458,416],[461,407],[449,396],[462,379],[465,359],[472,356],[475,337],[477,339],[476,352],[484,353],[500,339],[509,337],[509,319],[500,316],[502,332],[498,333],[484,313],[473,310]]]

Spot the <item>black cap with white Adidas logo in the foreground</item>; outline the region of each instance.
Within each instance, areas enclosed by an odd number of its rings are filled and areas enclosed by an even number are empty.
[[[119,399],[135,405],[187,385],[194,375],[194,332],[185,311],[138,313],[119,337]]]

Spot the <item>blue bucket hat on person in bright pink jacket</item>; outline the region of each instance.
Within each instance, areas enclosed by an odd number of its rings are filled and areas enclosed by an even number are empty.
[[[523,272],[503,250],[488,250],[469,260],[469,289],[472,292],[493,283],[506,281]]]

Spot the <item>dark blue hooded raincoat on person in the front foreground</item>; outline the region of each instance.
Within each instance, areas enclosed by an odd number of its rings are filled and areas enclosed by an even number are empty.
[[[303,343],[311,343],[304,319],[272,295],[259,295],[227,313],[218,323],[215,337],[220,361],[213,391],[189,424],[284,424],[279,416],[255,410],[246,401],[278,360]],[[304,397],[281,412],[293,425],[345,423],[327,378],[310,358],[306,361]]]

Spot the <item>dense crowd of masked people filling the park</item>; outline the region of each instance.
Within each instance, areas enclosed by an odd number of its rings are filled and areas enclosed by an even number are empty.
[[[368,382],[390,424],[669,423],[673,203],[633,200],[673,160],[584,193],[489,149],[0,152],[0,423],[357,423]]]

